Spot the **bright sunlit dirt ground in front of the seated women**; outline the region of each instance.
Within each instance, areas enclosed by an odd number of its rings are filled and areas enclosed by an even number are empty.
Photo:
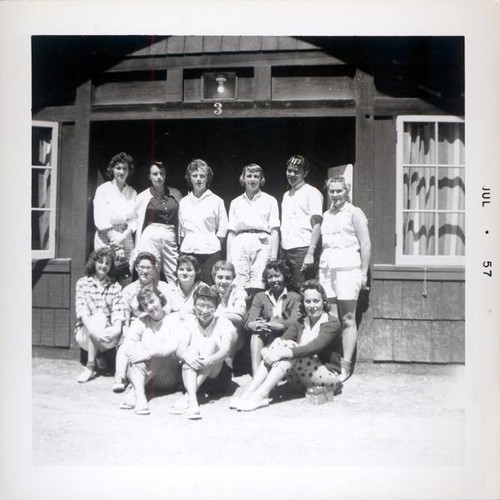
[[[203,419],[171,415],[179,393],[150,401],[151,415],[120,410],[113,379],[76,382],[68,356],[33,356],[34,465],[460,466],[464,366],[359,363],[342,394],[314,405],[278,388],[264,409],[205,402]],[[234,389],[250,380],[235,378]],[[85,436],[85,439],[82,439]]]

